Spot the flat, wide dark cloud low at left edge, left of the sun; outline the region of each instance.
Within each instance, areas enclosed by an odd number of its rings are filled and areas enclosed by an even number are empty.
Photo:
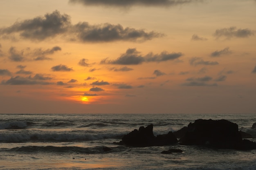
[[[5,85],[36,85],[36,84],[48,85],[48,84],[52,84],[52,83],[45,82],[45,81],[38,81],[38,79],[31,77],[31,76],[29,76],[29,77],[16,76],[16,77],[11,77],[7,81],[2,81],[1,84],[5,84]]]

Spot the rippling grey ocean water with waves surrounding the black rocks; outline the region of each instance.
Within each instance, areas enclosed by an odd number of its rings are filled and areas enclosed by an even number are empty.
[[[196,119],[227,119],[256,141],[254,114],[0,114],[0,170],[256,169],[256,150],[114,144],[140,126],[153,124],[156,136]],[[161,154],[170,148],[183,152]]]

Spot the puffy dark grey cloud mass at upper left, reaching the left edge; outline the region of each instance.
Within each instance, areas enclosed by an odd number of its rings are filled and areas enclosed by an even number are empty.
[[[29,40],[45,40],[65,33],[71,25],[70,16],[59,11],[45,14],[44,17],[15,22],[13,25],[1,28],[1,35],[19,33],[21,38]]]

